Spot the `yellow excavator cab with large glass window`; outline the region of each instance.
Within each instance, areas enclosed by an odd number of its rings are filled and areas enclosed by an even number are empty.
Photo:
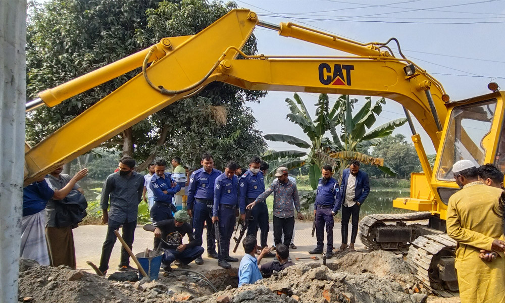
[[[453,164],[467,159],[477,167],[495,163],[501,166],[501,171],[505,168],[501,92],[450,103],[447,117],[431,182],[442,202],[436,209],[442,220],[445,220],[449,197],[459,190],[452,174]]]

